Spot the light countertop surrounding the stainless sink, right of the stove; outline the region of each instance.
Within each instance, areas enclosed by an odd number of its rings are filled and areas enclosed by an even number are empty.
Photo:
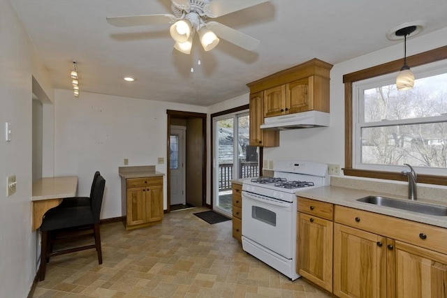
[[[410,221],[417,221],[419,223],[427,223],[429,225],[436,225],[439,227],[447,228],[447,216],[431,216],[427,214],[420,214],[417,212],[395,209],[391,207],[381,207],[374,204],[356,201],[357,199],[366,197],[367,195],[380,195],[387,198],[409,200],[408,198],[405,198],[403,196],[388,195],[386,193],[379,193],[377,191],[365,191],[356,188],[346,188],[339,186],[322,186],[317,188],[309,188],[308,190],[297,191],[296,195],[322,202],[329,202],[345,207],[352,207],[379,214],[386,214],[388,216],[404,218]],[[436,204],[447,207],[447,202],[445,201],[440,202],[420,199],[416,202]]]

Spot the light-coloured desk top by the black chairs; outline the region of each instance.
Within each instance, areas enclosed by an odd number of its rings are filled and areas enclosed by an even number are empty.
[[[31,201],[75,197],[78,176],[43,177],[33,183]]]

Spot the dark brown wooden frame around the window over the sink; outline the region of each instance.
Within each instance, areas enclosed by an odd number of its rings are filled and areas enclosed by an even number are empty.
[[[407,64],[409,64],[411,67],[423,66],[425,64],[430,64],[432,62],[441,61],[444,59],[447,59],[447,46],[438,47],[434,50],[406,57]],[[355,156],[355,152],[353,152],[353,150],[355,149],[353,148],[353,124],[355,119],[355,110],[353,110],[353,84],[354,82],[367,80],[373,77],[379,77],[382,75],[387,75],[389,73],[396,73],[397,70],[399,70],[402,66],[402,60],[403,59],[397,59],[386,64],[380,64],[378,66],[373,66],[371,68],[366,68],[343,76],[345,102],[345,166],[343,171],[344,175],[346,176],[406,181],[406,177],[400,174],[400,172],[365,170],[353,167],[353,156]],[[447,177],[431,174],[418,174],[418,182],[447,186]]]

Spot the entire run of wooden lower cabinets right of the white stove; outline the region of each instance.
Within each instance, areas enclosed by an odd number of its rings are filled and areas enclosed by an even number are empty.
[[[446,228],[331,206],[298,197],[298,274],[337,297],[447,298]]]

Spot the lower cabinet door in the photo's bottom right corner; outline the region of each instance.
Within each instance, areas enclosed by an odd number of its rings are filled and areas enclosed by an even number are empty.
[[[447,255],[395,241],[397,298],[446,298]]]

